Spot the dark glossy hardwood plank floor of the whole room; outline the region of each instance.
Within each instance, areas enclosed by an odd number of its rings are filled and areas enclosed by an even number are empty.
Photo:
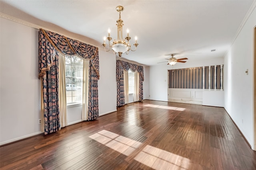
[[[117,109],[0,147],[0,169],[256,169],[224,108],[144,100]]]

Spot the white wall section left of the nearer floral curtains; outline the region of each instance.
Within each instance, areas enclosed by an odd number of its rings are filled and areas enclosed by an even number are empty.
[[[41,133],[38,29],[0,18],[0,144]]]

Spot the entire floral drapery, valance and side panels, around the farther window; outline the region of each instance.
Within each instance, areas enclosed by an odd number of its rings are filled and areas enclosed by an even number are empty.
[[[143,66],[128,63],[126,61],[116,61],[116,86],[117,86],[117,106],[124,105],[124,70],[131,69],[133,72],[137,70],[140,73],[140,84],[139,84],[139,101],[143,100],[143,81],[144,72]]]

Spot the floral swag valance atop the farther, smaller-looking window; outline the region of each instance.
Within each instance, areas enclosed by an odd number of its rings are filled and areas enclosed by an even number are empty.
[[[122,61],[122,60],[117,60],[116,65],[117,65],[116,69],[123,68],[124,70],[131,69],[133,72],[137,71],[138,73],[140,73],[141,80],[144,81],[143,66],[133,64],[133,63],[128,63],[128,62]],[[116,72],[116,80],[119,80],[121,78],[121,74],[118,74],[118,73],[120,73],[120,71]]]

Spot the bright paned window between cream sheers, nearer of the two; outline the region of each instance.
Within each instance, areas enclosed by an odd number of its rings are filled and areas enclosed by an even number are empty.
[[[83,61],[78,57],[66,57],[67,104],[82,102]]]

